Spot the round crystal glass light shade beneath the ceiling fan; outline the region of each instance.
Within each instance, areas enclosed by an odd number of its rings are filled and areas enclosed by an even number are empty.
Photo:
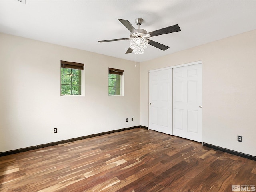
[[[144,50],[148,47],[148,40],[142,37],[136,37],[130,40],[130,48],[133,49],[133,53],[140,55],[144,53]]]

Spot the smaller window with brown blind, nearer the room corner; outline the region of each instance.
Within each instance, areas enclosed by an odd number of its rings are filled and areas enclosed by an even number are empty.
[[[121,76],[124,70],[108,68],[108,95],[121,95]]]

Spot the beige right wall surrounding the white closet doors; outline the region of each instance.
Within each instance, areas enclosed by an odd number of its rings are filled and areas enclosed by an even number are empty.
[[[256,156],[256,30],[142,62],[140,124],[148,126],[148,71],[199,60],[203,142]]]

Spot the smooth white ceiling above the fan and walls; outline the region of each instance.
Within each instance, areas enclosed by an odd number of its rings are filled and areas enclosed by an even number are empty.
[[[143,18],[148,32],[178,24],[181,32],[151,39],[142,55],[125,54],[130,31],[118,21]],[[143,62],[256,29],[256,0],[0,0],[0,32]]]

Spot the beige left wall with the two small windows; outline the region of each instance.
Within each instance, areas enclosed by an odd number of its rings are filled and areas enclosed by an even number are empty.
[[[60,96],[60,60],[84,63],[85,96]],[[108,96],[108,67],[124,96]],[[0,152],[140,125],[134,62],[0,34],[0,72]]]

